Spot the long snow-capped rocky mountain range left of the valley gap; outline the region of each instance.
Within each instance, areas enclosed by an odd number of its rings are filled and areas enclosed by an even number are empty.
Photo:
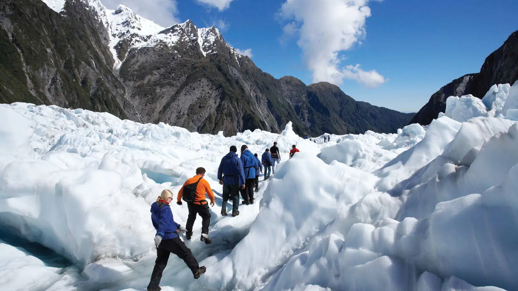
[[[0,102],[108,111],[200,133],[396,132],[412,114],[357,102],[337,86],[275,79],[215,27],[161,27],[99,0],[0,4]]]

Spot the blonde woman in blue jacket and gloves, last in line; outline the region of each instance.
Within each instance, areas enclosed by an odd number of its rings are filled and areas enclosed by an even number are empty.
[[[155,267],[151,273],[151,281],[148,285],[148,291],[158,291],[162,272],[164,271],[169,254],[173,253],[181,258],[185,264],[191,269],[194,279],[198,279],[200,275],[207,270],[205,266],[199,267],[198,261],[193,256],[191,250],[185,246],[180,239],[179,232],[185,233],[185,227],[175,222],[172,217],[169,203],[172,201],[172,193],[169,190],[162,191],[162,194],[151,205],[151,222],[156,229],[155,246],[156,260]]]

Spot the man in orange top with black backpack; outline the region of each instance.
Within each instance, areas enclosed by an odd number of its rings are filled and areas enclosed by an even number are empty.
[[[191,239],[194,221],[196,221],[196,215],[199,214],[199,216],[202,216],[202,236],[199,239],[209,244],[211,243],[209,239],[210,212],[207,200],[205,200],[205,193],[207,193],[210,198],[211,207],[214,207],[214,194],[212,193],[209,182],[203,179],[204,176],[205,169],[197,168],[196,176],[185,181],[180,191],[178,191],[176,203],[182,205],[183,198],[183,201],[187,202],[187,208],[189,209],[189,216],[185,224],[185,228],[187,229],[185,238]]]

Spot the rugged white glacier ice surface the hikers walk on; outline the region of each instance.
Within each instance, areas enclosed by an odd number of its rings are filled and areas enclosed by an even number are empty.
[[[0,231],[72,265],[50,266],[0,241],[0,284],[145,290],[155,259],[149,207],[203,166],[217,204],[214,239],[186,245],[207,273],[195,281],[171,256],[163,290],[517,289],[518,124],[479,116],[480,104],[513,110],[515,88],[493,86],[481,103],[458,98],[426,127],[329,142],[327,134],[302,139],[291,123],[281,134],[225,137],[82,109],[0,105]],[[221,158],[241,144],[261,155],[274,141],[283,160],[261,177],[258,203],[222,217]],[[287,159],[292,144],[300,152]],[[171,208],[184,224],[187,207]],[[200,231],[198,218],[193,238]]]

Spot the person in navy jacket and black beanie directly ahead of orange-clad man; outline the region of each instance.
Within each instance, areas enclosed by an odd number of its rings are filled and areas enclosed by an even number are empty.
[[[226,216],[228,199],[232,200],[232,217],[239,215],[239,188],[244,188],[245,178],[243,162],[236,154],[236,146],[230,147],[218,168],[218,180],[223,185],[223,202],[221,203],[221,215]]]

